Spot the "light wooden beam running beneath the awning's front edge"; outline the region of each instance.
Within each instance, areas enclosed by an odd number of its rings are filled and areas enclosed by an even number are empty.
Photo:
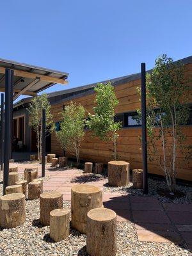
[[[57,83],[57,84],[68,84],[68,81],[61,79],[61,78],[56,78],[52,76],[43,76],[40,74],[35,74],[35,73],[30,73],[22,70],[14,70],[14,76],[20,76],[20,77],[27,77],[27,78],[32,78],[35,79],[37,76],[40,77],[41,81],[49,82],[49,83]],[[5,73],[5,68],[0,67],[0,73],[4,74]]]

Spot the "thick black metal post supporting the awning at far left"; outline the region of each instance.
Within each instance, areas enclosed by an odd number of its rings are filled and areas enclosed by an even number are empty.
[[[4,170],[3,170],[3,195],[8,186],[9,166],[10,166],[10,108],[11,108],[11,83],[13,72],[10,68],[5,68],[5,106],[4,106]]]

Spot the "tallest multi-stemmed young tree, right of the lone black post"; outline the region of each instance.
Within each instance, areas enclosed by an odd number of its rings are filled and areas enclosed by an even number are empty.
[[[159,165],[164,172],[168,189],[175,192],[177,155],[189,153],[182,126],[189,118],[189,86],[184,77],[184,66],[173,63],[166,54],[157,58],[152,74],[147,74],[147,132],[148,150],[161,154]],[[139,111],[140,113],[140,111]],[[161,141],[160,146],[157,141]],[[162,161],[163,160],[163,161]]]

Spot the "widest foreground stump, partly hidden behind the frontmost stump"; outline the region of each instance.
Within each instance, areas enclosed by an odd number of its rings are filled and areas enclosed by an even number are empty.
[[[86,234],[87,213],[102,207],[102,191],[92,185],[75,185],[71,189],[72,227]]]

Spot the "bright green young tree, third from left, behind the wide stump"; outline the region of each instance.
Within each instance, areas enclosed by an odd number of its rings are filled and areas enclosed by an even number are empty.
[[[93,134],[104,141],[113,141],[114,159],[116,160],[116,144],[118,130],[122,128],[121,122],[115,122],[115,106],[118,104],[114,87],[111,83],[99,83],[95,87],[97,106],[93,108],[94,115],[89,114],[88,127]]]

